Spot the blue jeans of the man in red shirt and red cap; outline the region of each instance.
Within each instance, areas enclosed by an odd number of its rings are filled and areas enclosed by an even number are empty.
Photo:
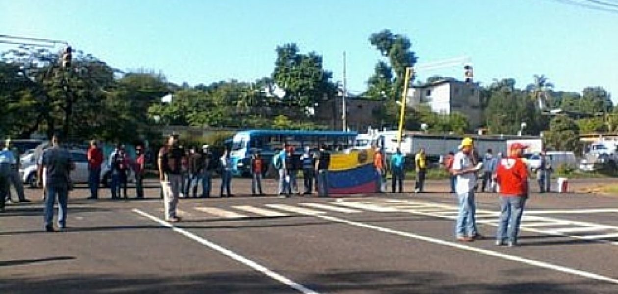
[[[522,221],[523,207],[526,197],[500,195],[500,222],[496,232],[496,240],[509,239],[517,243],[519,224]]]

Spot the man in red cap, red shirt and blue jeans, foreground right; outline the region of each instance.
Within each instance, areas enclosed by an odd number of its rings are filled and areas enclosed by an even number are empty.
[[[522,160],[527,146],[515,143],[510,146],[509,156],[500,159],[496,180],[500,185],[500,221],[496,233],[496,245],[517,246],[517,234],[522,220],[523,208],[528,199],[528,167]]]

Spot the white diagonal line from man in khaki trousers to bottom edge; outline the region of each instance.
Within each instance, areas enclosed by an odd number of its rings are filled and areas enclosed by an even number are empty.
[[[268,268],[266,268],[265,266],[262,266],[261,264],[258,264],[255,261],[252,261],[251,259],[245,258],[244,256],[237,254],[232,250],[223,248],[221,245],[210,242],[206,240],[205,238],[198,237],[194,233],[188,232],[187,230],[180,229],[179,227],[176,227],[170,224],[169,222],[163,221],[162,219],[158,219],[155,216],[151,216],[150,214],[147,214],[146,212],[140,211],[140,209],[133,209],[133,212],[140,214],[141,216],[146,217],[148,219],[151,219],[151,221],[157,222],[158,224],[163,225],[164,227],[168,227],[169,229],[172,229],[174,232],[177,232],[180,235],[184,235],[185,237],[190,238],[200,243],[201,245],[211,248],[212,250],[218,251],[219,253],[229,258],[232,258],[235,261],[238,261],[239,263],[245,264],[245,266],[251,267],[252,269],[255,269],[255,271],[268,275],[268,277],[271,277],[274,280],[277,280],[278,282],[281,282],[284,285],[288,285],[289,287],[293,288],[294,290],[297,290],[300,293],[303,293],[303,294],[317,294],[318,293],[318,292],[311,290],[310,288],[307,288],[303,285],[298,284],[297,282],[294,282],[293,280],[288,279],[287,277],[284,277],[283,275],[277,272],[273,272],[269,270]]]

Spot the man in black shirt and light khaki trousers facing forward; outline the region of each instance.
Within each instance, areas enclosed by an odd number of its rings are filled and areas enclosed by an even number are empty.
[[[176,206],[182,187],[182,161],[185,159],[185,151],[178,145],[176,135],[169,136],[167,145],[159,149],[158,166],[159,180],[163,187],[163,204],[165,219],[170,222],[180,221],[176,215]]]

